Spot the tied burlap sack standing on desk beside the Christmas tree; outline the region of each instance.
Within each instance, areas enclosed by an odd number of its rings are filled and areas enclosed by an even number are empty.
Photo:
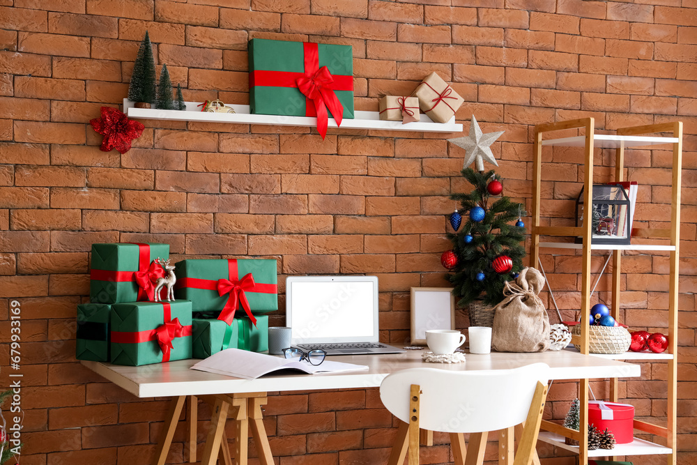
[[[549,347],[549,317],[537,294],[544,277],[525,268],[505,284],[505,298],[495,307],[491,347],[499,352],[544,352]]]

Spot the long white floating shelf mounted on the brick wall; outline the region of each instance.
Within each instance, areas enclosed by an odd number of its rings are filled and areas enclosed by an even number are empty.
[[[198,121],[201,123],[264,124],[274,126],[304,126],[315,128],[317,119],[311,116],[276,116],[252,114],[249,105],[227,105],[235,113],[201,112],[201,102],[186,102],[186,111],[136,108],[127,98],[123,99],[123,111],[132,119],[160,119],[167,121]],[[329,128],[339,128],[335,119],[328,121]],[[372,129],[385,131],[461,132],[462,125],[453,116],[447,123],[434,123],[427,115],[421,121],[402,124],[401,121],[383,121],[378,112],[355,112],[355,119],[344,119],[341,129]]]

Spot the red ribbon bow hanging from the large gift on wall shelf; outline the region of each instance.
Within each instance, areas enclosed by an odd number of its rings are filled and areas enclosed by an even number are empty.
[[[300,92],[314,103],[317,112],[317,130],[324,139],[327,135],[329,116],[327,108],[332,112],[332,116],[337,121],[337,126],[342,124],[344,116],[344,106],[339,102],[337,95],[332,89],[334,77],[329,72],[329,68],[322,66],[312,75],[300,76],[296,79]],[[325,106],[326,105],[326,106]]]

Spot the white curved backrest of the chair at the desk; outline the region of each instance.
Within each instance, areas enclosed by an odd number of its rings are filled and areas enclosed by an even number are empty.
[[[409,422],[412,384],[421,387],[419,426],[431,431],[495,431],[526,420],[537,382],[549,381],[549,367],[533,363],[482,372],[411,368],[392,373],[380,398],[394,416]]]

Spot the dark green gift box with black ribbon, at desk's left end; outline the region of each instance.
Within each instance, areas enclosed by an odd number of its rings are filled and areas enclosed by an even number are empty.
[[[77,333],[75,357],[77,360],[109,361],[109,312],[105,303],[77,305]]]

